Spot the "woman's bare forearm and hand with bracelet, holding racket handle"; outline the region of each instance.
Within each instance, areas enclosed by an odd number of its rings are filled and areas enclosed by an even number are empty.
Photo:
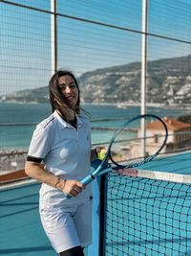
[[[39,163],[26,161],[25,173],[42,183],[69,194],[72,197],[76,197],[85,188],[85,186],[77,180],[64,180],[59,176],[47,172]]]

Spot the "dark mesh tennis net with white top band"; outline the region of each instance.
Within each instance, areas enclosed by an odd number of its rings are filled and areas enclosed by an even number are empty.
[[[100,255],[191,255],[191,175],[145,170],[102,181]]]

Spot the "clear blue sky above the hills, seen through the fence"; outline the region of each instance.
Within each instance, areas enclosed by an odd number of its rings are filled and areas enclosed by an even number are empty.
[[[11,1],[50,11],[50,0]],[[141,59],[141,0],[58,0],[58,68],[87,71]],[[0,95],[46,86],[51,77],[51,18],[0,1]],[[190,0],[149,0],[148,33],[191,42]],[[112,28],[115,26],[117,28]],[[148,60],[191,54],[191,43],[148,36]]]

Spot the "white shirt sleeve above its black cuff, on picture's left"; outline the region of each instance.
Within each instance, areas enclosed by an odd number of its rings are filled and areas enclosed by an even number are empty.
[[[28,156],[44,159],[50,151],[51,137],[50,130],[40,126],[36,127],[32,135]]]

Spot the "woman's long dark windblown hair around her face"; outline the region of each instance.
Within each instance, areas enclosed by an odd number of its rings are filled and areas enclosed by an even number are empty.
[[[63,76],[71,76],[74,80],[74,83],[78,89],[78,99],[76,105],[73,107],[67,101],[67,99],[62,94],[60,87],[58,86],[58,79]],[[80,91],[78,82],[76,81],[74,74],[69,70],[59,70],[53,74],[53,77],[49,81],[49,96],[50,103],[52,105],[52,112],[54,110],[58,110],[58,112],[62,115],[62,118],[67,120],[67,108],[70,107],[74,110],[75,113],[80,113]]]

